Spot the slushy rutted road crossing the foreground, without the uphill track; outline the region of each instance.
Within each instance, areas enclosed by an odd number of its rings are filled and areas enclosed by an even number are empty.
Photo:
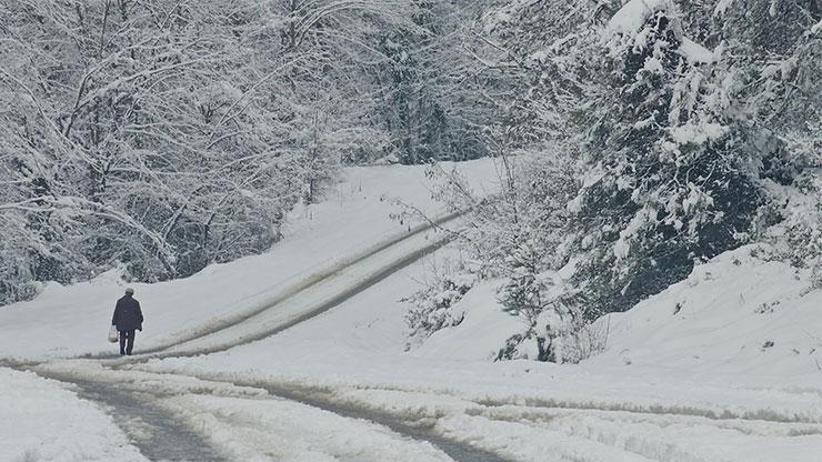
[[[150,460],[812,461],[822,435],[819,422],[694,409],[510,404],[454,390],[319,388],[144,369],[97,360],[34,368],[126,416],[123,430]]]

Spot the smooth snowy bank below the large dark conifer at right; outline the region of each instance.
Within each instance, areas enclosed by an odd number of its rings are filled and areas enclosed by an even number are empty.
[[[624,313],[600,319],[607,351],[585,362],[698,380],[822,384],[822,290],[810,272],[743,247]]]

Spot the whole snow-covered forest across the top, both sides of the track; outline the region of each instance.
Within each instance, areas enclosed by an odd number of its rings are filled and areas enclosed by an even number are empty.
[[[263,251],[340,165],[481,157],[500,194],[441,193],[511,356],[749,242],[822,279],[820,0],[0,0],[0,304]]]

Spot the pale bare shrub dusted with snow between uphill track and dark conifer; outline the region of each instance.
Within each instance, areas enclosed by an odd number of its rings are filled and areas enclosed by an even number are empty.
[[[470,225],[460,242],[481,262],[478,272],[483,278],[512,275],[521,267],[515,255],[524,258],[523,252],[530,253],[529,265],[538,272],[562,265],[565,204],[578,189],[570,151],[554,147],[551,155],[519,152],[499,158],[500,192],[482,198],[455,171],[431,167],[430,177],[439,181],[435,197],[464,212]]]

